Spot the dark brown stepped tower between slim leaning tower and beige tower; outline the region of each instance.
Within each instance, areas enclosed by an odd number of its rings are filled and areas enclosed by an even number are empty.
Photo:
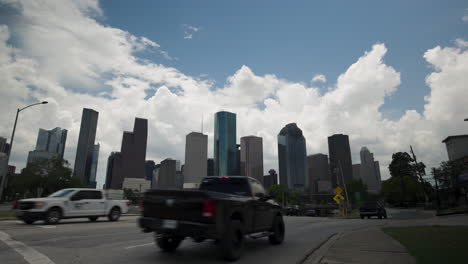
[[[125,178],[145,178],[147,136],[148,120],[143,118],[135,118],[133,132],[124,131],[120,152],[113,155],[110,189],[122,189]]]

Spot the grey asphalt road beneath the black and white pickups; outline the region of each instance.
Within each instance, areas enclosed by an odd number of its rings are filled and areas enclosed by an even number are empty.
[[[272,246],[268,239],[248,239],[237,263],[297,263],[312,249],[337,232],[398,222],[408,217],[429,217],[405,210],[389,210],[389,219],[333,219],[285,217],[285,243]],[[61,263],[222,263],[212,241],[186,239],[174,253],[161,252],[152,234],[142,233],[136,216],[118,222],[92,223],[85,219],[64,220],[56,226],[25,225],[16,220],[0,221],[2,264]],[[25,259],[26,256],[26,259]]]

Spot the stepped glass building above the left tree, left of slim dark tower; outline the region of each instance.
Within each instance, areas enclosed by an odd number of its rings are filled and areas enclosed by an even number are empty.
[[[28,163],[38,159],[62,158],[67,141],[67,130],[56,127],[51,130],[40,128],[36,148],[28,154]]]

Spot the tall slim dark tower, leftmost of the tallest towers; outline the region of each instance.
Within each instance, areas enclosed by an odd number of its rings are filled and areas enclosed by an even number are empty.
[[[98,117],[98,112],[83,108],[73,174],[86,185],[90,184]]]

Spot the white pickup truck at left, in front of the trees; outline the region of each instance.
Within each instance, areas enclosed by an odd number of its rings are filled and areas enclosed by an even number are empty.
[[[127,213],[128,200],[108,200],[103,190],[63,189],[45,198],[19,200],[15,205],[16,217],[26,224],[44,220],[56,224],[65,218],[89,218],[96,221],[107,216],[109,221],[117,221]]]

